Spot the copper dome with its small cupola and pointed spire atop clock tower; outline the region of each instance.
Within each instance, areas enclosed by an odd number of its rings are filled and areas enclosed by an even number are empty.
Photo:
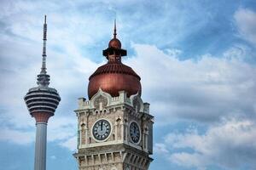
[[[141,78],[131,67],[122,64],[121,57],[126,55],[126,50],[121,48],[121,42],[116,38],[114,25],[113,39],[108,43],[108,48],[103,50],[103,55],[108,59],[90,76],[88,96],[92,98],[101,88],[113,97],[119,96],[119,91],[124,90],[128,97],[132,94],[142,93]]]

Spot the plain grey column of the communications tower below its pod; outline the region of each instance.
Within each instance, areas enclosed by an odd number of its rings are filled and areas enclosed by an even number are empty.
[[[47,123],[37,122],[34,170],[46,169]]]

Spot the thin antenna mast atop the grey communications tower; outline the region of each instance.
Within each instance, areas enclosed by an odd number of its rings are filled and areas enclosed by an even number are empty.
[[[44,44],[43,44],[43,54],[42,54],[42,68],[40,74],[38,75],[38,85],[39,86],[48,86],[49,85],[49,75],[46,72],[46,40],[47,40],[47,24],[46,24],[46,15],[44,15]]]

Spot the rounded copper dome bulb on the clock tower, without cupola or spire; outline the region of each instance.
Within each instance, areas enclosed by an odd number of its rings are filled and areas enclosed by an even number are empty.
[[[102,65],[89,78],[89,99],[98,92],[99,88],[113,97],[119,96],[119,91],[122,90],[127,93],[128,97],[132,94],[141,94],[140,80],[136,72],[127,65],[121,63]]]

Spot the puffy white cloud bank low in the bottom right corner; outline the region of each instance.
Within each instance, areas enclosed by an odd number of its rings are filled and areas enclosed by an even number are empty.
[[[232,118],[209,127],[206,133],[199,133],[197,129],[188,129],[185,133],[169,133],[165,143],[156,144],[155,148],[164,148],[169,161],[184,167],[207,169],[208,166],[216,165],[240,169],[247,165],[254,169],[255,139],[255,122]]]

